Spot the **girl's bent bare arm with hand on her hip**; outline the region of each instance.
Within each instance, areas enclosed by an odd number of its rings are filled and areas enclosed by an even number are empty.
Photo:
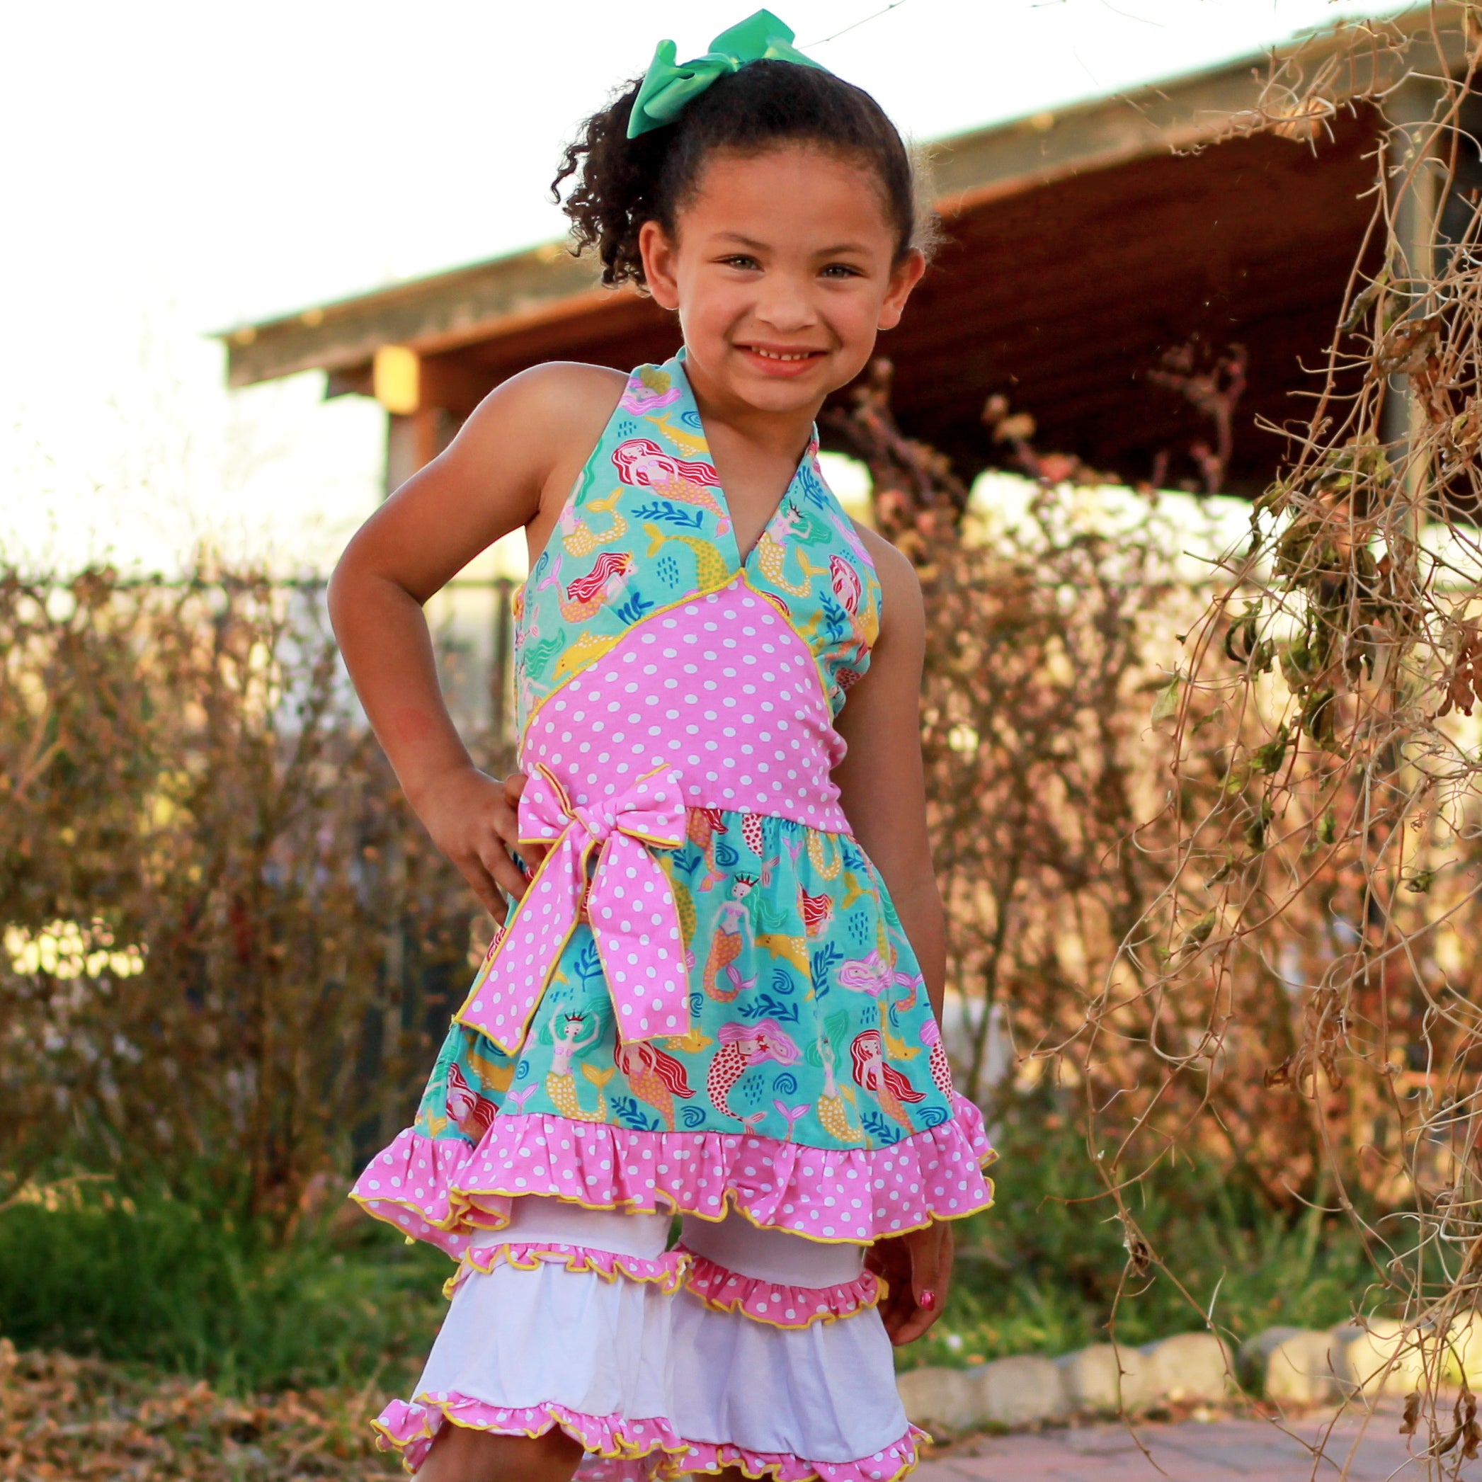
[[[449,448],[359,529],[329,582],[329,617],[356,692],[433,842],[502,917],[520,780],[480,772],[443,704],[422,606],[482,550],[526,529],[531,560],[602,436],[624,378],[547,365],[505,381]]]

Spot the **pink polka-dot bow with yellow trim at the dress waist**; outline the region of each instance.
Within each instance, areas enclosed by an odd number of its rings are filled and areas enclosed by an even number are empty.
[[[685,943],[674,892],[654,857],[655,849],[685,842],[679,774],[661,766],[617,797],[576,808],[560,782],[536,766],[520,797],[520,842],[547,843],[550,852],[485,959],[458,1021],[516,1054],[576,929],[585,895],[618,1037],[686,1033]],[[588,880],[594,849],[600,852]]]

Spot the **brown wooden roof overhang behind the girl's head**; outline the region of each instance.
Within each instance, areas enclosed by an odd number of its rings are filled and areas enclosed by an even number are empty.
[[[1395,24],[1429,21],[1423,10]],[[1306,43],[1309,53],[1325,44]],[[1269,480],[1280,439],[1255,418],[1285,424],[1309,405],[1371,218],[1378,133],[1356,105],[1310,139],[1229,136],[1266,62],[932,148],[947,243],[880,341],[908,434],[975,473],[996,455],[983,403],[1005,393],[1033,413],[1042,448],[1126,479],[1147,477],[1163,452],[1169,477],[1189,474],[1178,459],[1209,425],[1149,372],[1192,339],[1215,353],[1240,344],[1248,390],[1227,488]],[[1371,82],[1352,77],[1352,92]],[[679,335],[652,301],[596,286],[587,262],[551,243],[222,339],[231,385],[322,369],[328,394],[370,393],[382,347],[415,351],[422,433],[405,476],[442,440],[428,418],[456,425],[507,376],[553,359],[628,369],[671,354]]]

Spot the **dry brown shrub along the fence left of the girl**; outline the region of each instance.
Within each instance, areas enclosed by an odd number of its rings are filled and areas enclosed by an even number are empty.
[[[12,571],[0,652],[0,1166],[205,1178],[285,1232],[405,1119],[468,895],[317,590]]]

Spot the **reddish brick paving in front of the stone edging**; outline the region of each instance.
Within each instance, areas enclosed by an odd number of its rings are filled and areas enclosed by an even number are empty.
[[[1140,1423],[1152,1461],[1122,1424],[984,1436],[938,1451],[913,1482],[1424,1482],[1426,1464],[1409,1451],[1424,1442],[1398,1427],[1399,1415],[1387,1408],[1337,1421],[1307,1415],[1286,1421],[1285,1432],[1246,1418]],[[1322,1445],[1325,1433],[1325,1455],[1315,1464],[1304,1442]],[[1482,1479],[1482,1461],[1463,1463],[1461,1478]]]

